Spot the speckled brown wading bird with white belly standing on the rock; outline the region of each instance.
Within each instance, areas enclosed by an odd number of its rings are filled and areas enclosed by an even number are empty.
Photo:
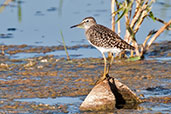
[[[107,78],[109,69],[114,59],[113,54],[119,54],[123,50],[135,49],[132,45],[124,41],[117,33],[112,31],[111,29],[103,25],[97,24],[94,17],[86,17],[81,21],[81,23],[73,25],[70,28],[74,27],[84,29],[85,36],[88,42],[101,52],[104,58],[104,72],[101,76],[102,80]],[[112,53],[112,58],[108,69],[106,68],[107,59],[105,57],[105,53],[107,52]]]

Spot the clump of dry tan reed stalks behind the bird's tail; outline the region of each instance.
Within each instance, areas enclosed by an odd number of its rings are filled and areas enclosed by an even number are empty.
[[[144,54],[149,50],[152,43],[164,30],[171,30],[171,20],[169,22],[165,22],[162,19],[154,17],[153,12],[151,11],[152,4],[154,2],[155,0],[124,0],[123,2],[111,0],[112,30],[115,31],[115,23],[117,23],[117,32],[120,35],[120,20],[125,18],[126,31],[124,40],[135,47],[135,52],[132,51],[131,56],[135,56],[136,58],[138,57],[139,59],[144,58]],[[115,20],[116,17],[117,20]],[[149,31],[143,44],[139,45],[135,35],[147,17],[150,17],[154,21],[159,21],[164,25],[156,31]]]

